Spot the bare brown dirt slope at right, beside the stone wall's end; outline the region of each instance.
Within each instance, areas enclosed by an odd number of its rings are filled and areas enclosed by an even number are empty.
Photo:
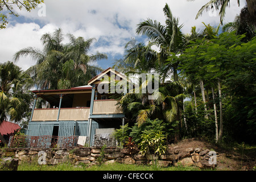
[[[179,148],[203,148],[217,152],[217,168],[219,171],[251,171],[256,170],[256,147],[236,148],[221,147],[217,144],[210,144],[201,139],[184,139],[178,143],[171,144]]]

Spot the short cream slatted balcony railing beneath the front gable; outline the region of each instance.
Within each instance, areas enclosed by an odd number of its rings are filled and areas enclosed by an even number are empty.
[[[122,114],[117,100],[94,100],[93,114]]]

